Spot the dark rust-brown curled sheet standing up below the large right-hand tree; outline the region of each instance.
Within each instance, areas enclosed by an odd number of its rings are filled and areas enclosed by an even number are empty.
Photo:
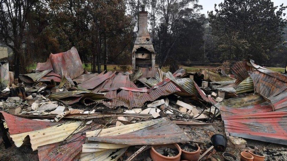
[[[235,82],[235,86],[237,86],[240,82],[249,77],[248,71],[252,71],[253,67],[247,64],[247,61],[236,62],[231,70],[236,74],[237,79]]]

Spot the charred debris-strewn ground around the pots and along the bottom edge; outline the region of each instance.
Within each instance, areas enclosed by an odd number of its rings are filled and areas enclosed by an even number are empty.
[[[221,119],[215,119],[215,121],[212,124],[213,128],[206,128],[206,127],[197,127],[197,126],[188,126],[183,125],[181,129],[188,134],[191,141],[198,143],[198,145],[201,148],[201,153],[203,153],[207,148],[211,146],[210,138],[215,133],[220,133],[225,135],[224,132],[224,125],[223,121]],[[257,140],[250,140],[245,139],[247,141],[247,147],[246,149],[259,149],[260,152],[266,155],[265,160],[276,160],[276,161],[286,161],[287,160],[287,146],[279,145],[279,144],[273,144],[273,143],[266,143],[261,142]],[[120,160],[126,159],[130,155],[132,155],[136,150],[141,148],[141,146],[132,146],[129,147],[127,152],[120,158]],[[4,144],[2,143],[2,138],[0,138],[0,160],[6,161],[6,160],[17,160],[17,161],[26,161],[26,160],[39,160],[37,151],[32,151],[31,144],[22,145],[20,148],[17,148],[15,145],[12,147],[5,149]],[[240,160],[240,152],[241,148],[233,148],[230,145],[227,145],[226,152],[231,152],[235,154]],[[149,149],[139,154],[134,160],[140,161],[140,160],[151,160],[149,157]],[[202,160],[221,160],[223,161],[223,152],[216,152],[215,150],[213,153],[206,155],[206,157],[203,157]]]

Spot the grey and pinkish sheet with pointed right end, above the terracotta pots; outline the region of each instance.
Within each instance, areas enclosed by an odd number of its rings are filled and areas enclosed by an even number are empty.
[[[168,118],[158,120],[155,125],[131,133],[89,137],[88,140],[126,145],[161,145],[190,140],[181,128]]]

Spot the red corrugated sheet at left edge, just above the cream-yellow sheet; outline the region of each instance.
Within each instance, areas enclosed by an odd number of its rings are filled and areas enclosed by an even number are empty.
[[[19,134],[30,131],[41,130],[50,126],[57,125],[59,123],[55,122],[47,122],[47,121],[36,121],[30,120],[26,118],[21,118],[17,116],[10,115],[4,111],[0,111],[2,113],[4,120],[9,128],[10,134]]]

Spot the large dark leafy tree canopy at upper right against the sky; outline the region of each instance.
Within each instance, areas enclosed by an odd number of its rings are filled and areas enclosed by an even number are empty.
[[[285,9],[271,0],[225,0],[208,13],[212,34],[219,38],[221,60],[268,60],[283,43]]]

